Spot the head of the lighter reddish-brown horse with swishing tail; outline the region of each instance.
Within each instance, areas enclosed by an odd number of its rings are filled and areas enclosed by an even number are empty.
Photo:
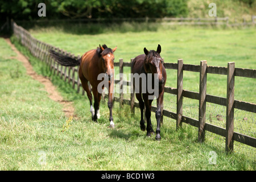
[[[108,48],[105,44],[101,47],[100,45],[100,55],[101,55],[101,67],[104,73],[109,77],[109,80],[114,76],[113,69],[114,69],[114,52],[117,47],[111,49]]]

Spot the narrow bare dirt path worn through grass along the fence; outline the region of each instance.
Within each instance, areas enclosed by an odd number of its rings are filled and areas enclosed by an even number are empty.
[[[21,61],[24,65],[24,67],[27,69],[27,74],[30,75],[33,79],[40,81],[44,86],[46,91],[48,92],[48,97],[51,98],[53,101],[59,102],[61,105],[63,105],[63,112],[65,113],[66,117],[69,117],[74,114],[74,108],[72,106],[72,102],[63,100],[63,97],[60,96],[60,94],[57,92],[55,86],[52,84],[52,82],[42,76],[36,74],[36,72],[33,70],[30,62],[28,61],[27,57],[22,55],[16,47],[11,43],[10,39],[6,38],[6,42],[11,46],[11,49],[16,53],[17,56],[11,57],[12,59],[17,59]]]

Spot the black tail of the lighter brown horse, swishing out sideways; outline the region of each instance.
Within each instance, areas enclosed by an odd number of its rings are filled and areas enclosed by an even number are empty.
[[[81,58],[73,59],[72,57],[65,56],[65,55],[62,55],[61,53],[55,52],[53,51],[53,49],[50,49],[49,53],[57,63],[65,67],[75,67],[80,65]]]

